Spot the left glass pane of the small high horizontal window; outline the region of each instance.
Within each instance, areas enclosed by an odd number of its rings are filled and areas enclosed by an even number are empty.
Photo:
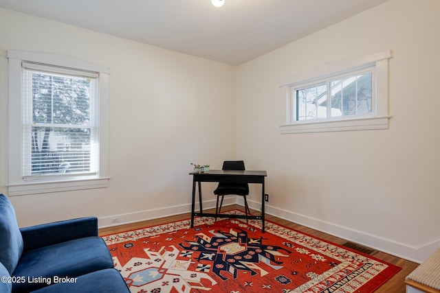
[[[296,90],[296,120],[327,117],[327,85]]]

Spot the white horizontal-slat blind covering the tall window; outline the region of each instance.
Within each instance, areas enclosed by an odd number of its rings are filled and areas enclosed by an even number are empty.
[[[22,63],[22,172],[98,174],[98,73]]]

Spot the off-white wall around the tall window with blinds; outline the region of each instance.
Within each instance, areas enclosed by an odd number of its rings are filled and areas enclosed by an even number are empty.
[[[20,226],[83,215],[104,226],[118,215],[130,222],[190,211],[190,163],[220,168],[236,156],[236,67],[0,8],[1,193],[8,194],[8,49],[110,68],[109,187],[12,196]]]

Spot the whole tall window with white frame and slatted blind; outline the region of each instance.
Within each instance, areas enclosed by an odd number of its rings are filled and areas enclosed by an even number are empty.
[[[9,194],[107,187],[108,69],[51,54],[8,58]]]

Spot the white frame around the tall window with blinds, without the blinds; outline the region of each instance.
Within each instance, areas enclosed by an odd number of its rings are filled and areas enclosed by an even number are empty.
[[[108,96],[109,68],[69,56],[28,51],[8,51],[9,59],[9,180],[8,194],[43,194],[56,191],[108,187]],[[54,67],[65,67],[99,74],[99,171],[93,176],[41,176],[26,180],[22,172],[22,62],[35,62]]]

